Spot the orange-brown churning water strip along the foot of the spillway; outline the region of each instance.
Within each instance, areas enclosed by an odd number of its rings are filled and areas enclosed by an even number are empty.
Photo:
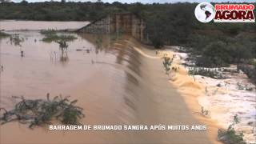
[[[160,56],[167,54],[170,58],[174,58],[175,55],[174,61],[170,67],[171,69],[174,67],[176,70],[171,70],[171,78],[169,82],[178,90],[178,93],[182,95],[193,116],[208,126],[207,133],[210,141],[214,143],[222,143],[217,140],[218,129],[221,128],[221,126],[218,126],[217,122],[213,119],[207,118],[201,114],[201,106],[198,103],[198,98],[206,96],[206,86],[196,82],[194,78],[189,76],[186,68],[182,66],[180,59],[177,58],[178,55],[173,51],[168,50],[160,53]]]

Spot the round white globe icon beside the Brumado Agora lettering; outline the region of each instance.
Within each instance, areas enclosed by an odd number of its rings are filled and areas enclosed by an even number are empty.
[[[210,22],[215,16],[214,6],[209,2],[199,3],[198,6],[195,7],[194,15],[199,22]]]

